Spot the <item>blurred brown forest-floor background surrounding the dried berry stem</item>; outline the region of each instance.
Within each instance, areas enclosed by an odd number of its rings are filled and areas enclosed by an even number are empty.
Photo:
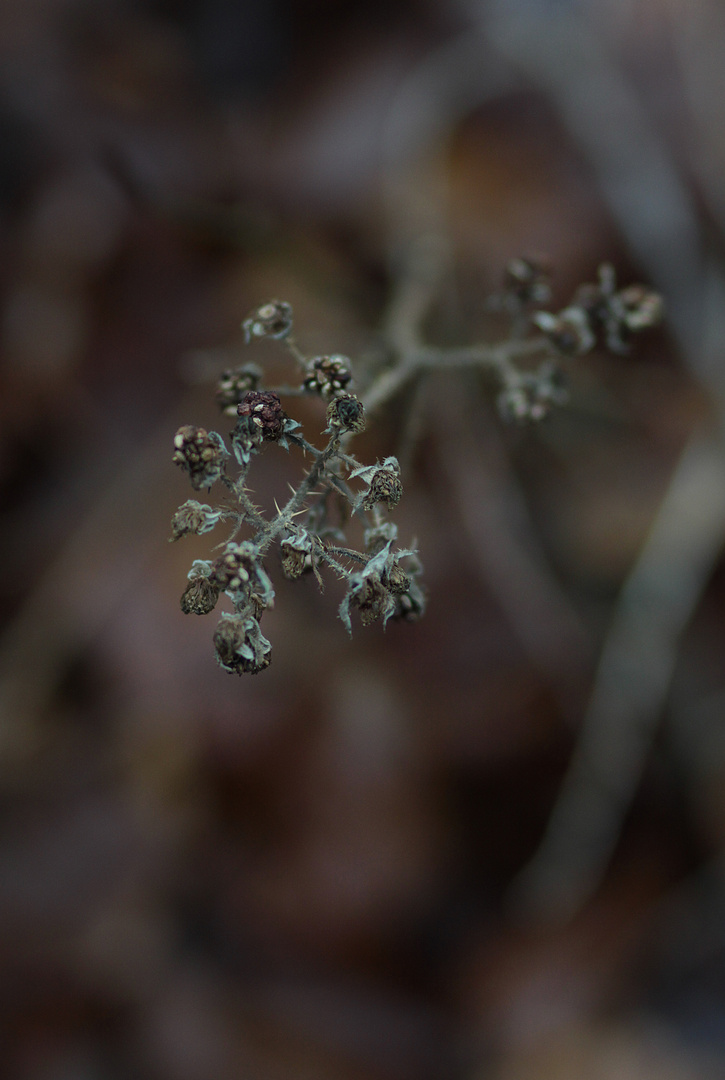
[[[725,1075],[720,0],[5,0],[0,60],[2,1077]],[[274,564],[227,675],[173,433],[284,370],[270,297],[385,357],[431,238],[439,342],[526,252],[667,325],[540,426],[432,380],[424,620],[350,639]]]

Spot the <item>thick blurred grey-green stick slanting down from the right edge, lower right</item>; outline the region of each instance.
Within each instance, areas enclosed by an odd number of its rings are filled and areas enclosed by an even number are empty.
[[[566,918],[598,887],[667,700],[680,640],[720,555],[725,462],[695,436],[620,593],[543,841],[514,883],[520,914]]]

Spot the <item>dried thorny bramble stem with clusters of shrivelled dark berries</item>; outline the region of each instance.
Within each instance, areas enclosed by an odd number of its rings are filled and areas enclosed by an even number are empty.
[[[172,521],[172,540],[207,532],[221,522],[232,525],[218,557],[193,562],[182,596],[187,615],[210,613],[220,593],[230,598],[233,611],[221,615],[214,634],[216,659],[225,671],[256,674],[270,663],[271,645],[259,622],[274,603],[265,565],[274,544],[287,579],[311,572],[322,588],[321,568],[327,567],[344,582],[339,617],[350,632],[353,610],[364,625],[422,615],[417,552],[397,545],[398,529],[389,519],[403,491],[398,459],[391,455],[363,464],[348,451],[350,440],[365,428],[366,405],[378,408],[427,372],[479,366],[493,370],[498,380],[497,405],[505,419],[538,421],[566,401],[561,369],[565,356],[580,356],[600,342],[625,352],[631,336],[654,326],[662,313],[660,297],[644,286],[618,291],[606,265],[600,268],[598,283],[582,285],[559,313],[545,310],[550,297],[545,261],[513,259],[502,289],[489,298],[491,308],[511,315],[506,341],[449,350],[412,345],[392,357],[362,396],[353,392],[347,356],[307,357],[300,351],[288,303],[271,300],[247,316],[242,324],[245,341],[280,341],[294,357],[298,383],[264,389],[263,373],[255,365],[226,370],[216,396],[224,416],[236,417],[229,446],[217,432],[190,424],[179,428],[174,440],[173,460],[193,489],[221,485],[231,497],[216,507],[190,499]],[[521,366],[537,354],[542,356],[537,368]],[[326,403],[327,441],[322,448],[305,438],[298,421],[282,407],[283,396],[303,395]],[[287,502],[276,504],[269,517],[252,502],[246,487],[253,459],[268,444],[284,450],[296,447],[310,462]],[[236,475],[230,474],[232,462]],[[362,550],[350,546],[346,537],[355,518],[362,526]]]

